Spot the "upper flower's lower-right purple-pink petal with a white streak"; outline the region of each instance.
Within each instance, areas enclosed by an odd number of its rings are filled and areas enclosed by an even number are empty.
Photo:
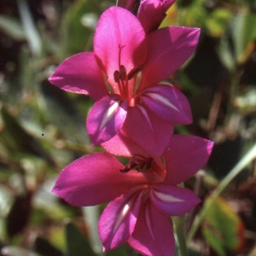
[[[192,122],[189,102],[174,86],[154,85],[146,87],[141,94],[144,104],[161,119],[180,125]]]

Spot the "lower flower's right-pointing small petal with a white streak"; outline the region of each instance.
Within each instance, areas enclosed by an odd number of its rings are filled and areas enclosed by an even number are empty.
[[[150,200],[160,212],[168,215],[182,215],[200,203],[200,199],[189,189],[154,184],[150,190]]]

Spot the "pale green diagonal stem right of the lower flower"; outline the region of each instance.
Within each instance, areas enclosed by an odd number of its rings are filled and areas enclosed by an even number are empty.
[[[256,158],[256,144],[253,145],[247,154],[243,156],[243,158],[236,164],[236,166],[229,172],[229,174],[224,177],[222,182],[218,184],[217,189],[214,190],[212,195],[207,200],[207,204],[202,208],[198,217],[195,218],[195,222],[189,231],[188,241],[190,241],[195,235],[196,230],[199,228],[202,219],[205,217],[208,208],[211,206],[212,202],[217,198],[218,195],[226,188],[226,186],[230,183],[230,181],[236,177],[236,175],[241,172],[253,159]]]

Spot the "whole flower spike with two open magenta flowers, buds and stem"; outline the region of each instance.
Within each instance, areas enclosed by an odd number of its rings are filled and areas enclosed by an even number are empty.
[[[178,184],[207,163],[213,143],[172,135],[174,125],[192,122],[191,109],[180,90],[161,82],[194,53],[200,35],[157,29],[173,2],[143,0],[134,15],[136,1],[118,1],[123,8],[107,9],[97,23],[94,52],[71,56],[49,78],[96,101],[87,131],[107,152],[73,161],[52,191],[76,207],[110,201],[98,222],[104,252],[128,241],[146,256],[174,255],[175,233],[180,256],[188,256],[184,213],[201,200]]]

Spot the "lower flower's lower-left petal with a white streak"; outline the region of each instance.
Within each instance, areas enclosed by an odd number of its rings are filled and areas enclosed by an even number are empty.
[[[131,236],[143,196],[142,186],[112,201],[102,212],[98,230],[104,251],[119,247]]]

